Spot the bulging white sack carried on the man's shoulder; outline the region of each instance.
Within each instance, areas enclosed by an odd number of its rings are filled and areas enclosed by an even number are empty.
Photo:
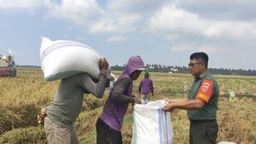
[[[51,41],[42,37],[41,68],[47,81],[84,73],[99,79],[99,59],[102,56],[88,45],[67,41]]]

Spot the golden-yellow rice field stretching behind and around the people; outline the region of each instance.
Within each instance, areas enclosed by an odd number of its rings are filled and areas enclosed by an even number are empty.
[[[113,72],[119,76],[121,72]],[[40,108],[51,104],[59,81],[48,82],[39,68],[19,68],[16,78],[0,77],[0,143],[47,143],[44,127],[37,124]],[[218,141],[241,144],[256,143],[256,77],[215,76],[220,88],[217,120]],[[166,97],[186,97],[193,77],[190,74],[150,73],[154,82],[153,100]],[[138,84],[143,73],[134,81],[133,94],[138,95]],[[186,90],[184,90],[186,82]],[[229,100],[234,90],[236,100]],[[81,144],[96,143],[95,122],[102,112],[102,99],[85,95],[83,108],[75,122]],[[123,141],[131,143],[132,106],[129,105],[122,128]],[[189,143],[189,121],[186,111],[175,109],[171,113],[174,144]]]

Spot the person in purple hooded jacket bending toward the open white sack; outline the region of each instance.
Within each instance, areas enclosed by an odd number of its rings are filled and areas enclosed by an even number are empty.
[[[145,70],[145,66],[140,56],[131,56],[97,120],[97,144],[123,143],[121,129],[128,105],[141,103],[139,98],[132,95],[132,81],[138,79],[142,70]]]

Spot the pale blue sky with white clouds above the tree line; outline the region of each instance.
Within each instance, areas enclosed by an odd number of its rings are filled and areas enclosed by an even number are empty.
[[[110,65],[132,55],[186,66],[193,52],[211,68],[256,69],[256,1],[0,0],[0,49],[40,65],[41,35],[96,49]]]

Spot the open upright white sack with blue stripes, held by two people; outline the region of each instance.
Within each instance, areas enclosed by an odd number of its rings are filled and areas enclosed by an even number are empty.
[[[172,144],[170,113],[162,111],[165,100],[136,104],[133,111],[131,144]]]

